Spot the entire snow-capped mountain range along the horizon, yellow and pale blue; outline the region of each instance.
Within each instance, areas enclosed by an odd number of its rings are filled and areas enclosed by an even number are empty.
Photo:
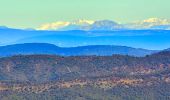
[[[38,30],[141,30],[141,29],[157,29],[170,30],[169,19],[149,18],[143,21],[136,21],[127,24],[118,24],[111,20],[77,20],[73,22],[54,22],[43,24]]]

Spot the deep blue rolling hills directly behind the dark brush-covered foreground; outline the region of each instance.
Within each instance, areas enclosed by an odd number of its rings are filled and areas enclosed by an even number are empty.
[[[50,54],[61,56],[81,56],[81,55],[111,56],[113,54],[120,54],[130,56],[146,56],[155,52],[158,51],[111,45],[93,45],[61,48],[53,44],[46,43],[25,43],[0,47],[1,57],[32,54]]]

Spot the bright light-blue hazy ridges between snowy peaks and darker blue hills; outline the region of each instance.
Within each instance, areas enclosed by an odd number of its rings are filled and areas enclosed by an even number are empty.
[[[110,25],[115,24],[109,21],[107,23],[110,23]],[[162,50],[170,47],[170,30],[104,31],[95,30],[95,27],[91,27],[91,29],[94,30],[38,31],[30,29],[23,30],[1,27],[0,45],[3,46],[23,43],[50,43],[59,47],[77,47],[86,45],[123,45],[151,50]]]

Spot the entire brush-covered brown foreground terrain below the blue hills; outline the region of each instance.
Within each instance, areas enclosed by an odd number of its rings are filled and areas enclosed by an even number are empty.
[[[169,100],[170,52],[0,58],[1,100]]]

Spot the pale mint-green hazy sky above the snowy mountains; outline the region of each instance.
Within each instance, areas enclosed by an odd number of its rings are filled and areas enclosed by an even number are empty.
[[[34,28],[77,19],[121,23],[170,18],[170,0],[0,0],[0,26]]]

